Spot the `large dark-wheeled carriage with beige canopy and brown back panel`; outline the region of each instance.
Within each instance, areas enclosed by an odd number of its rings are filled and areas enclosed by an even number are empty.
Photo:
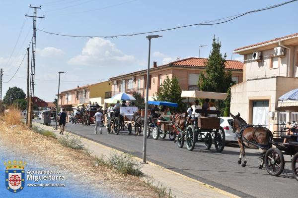
[[[182,91],[182,98],[194,98],[194,99],[225,99],[227,94],[214,93],[214,92],[202,92],[202,91]],[[182,148],[184,142],[188,150],[195,148],[196,142],[205,143],[205,147],[210,149],[212,146],[212,139],[214,139],[214,145],[218,152],[223,151],[225,145],[224,129],[220,126],[220,114],[218,110],[203,110],[193,109],[198,117],[192,118],[192,123],[185,127],[185,130],[181,130],[181,127],[175,128],[178,133],[178,147]],[[212,115],[212,116],[210,116]],[[216,115],[216,117],[215,117]],[[186,125],[186,119],[185,119]]]

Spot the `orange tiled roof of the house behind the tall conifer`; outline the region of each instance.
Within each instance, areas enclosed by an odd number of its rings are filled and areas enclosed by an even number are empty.
[[[205,67],[204,62],[207,61],[207,58],[186,58],[182,60],[177,60],[170,62],[170,65],[181,65],[181,66],[196,66],[196,67]],[[243,69],[243,63],[238,60],[226,60],[225,62],[226,69]]]

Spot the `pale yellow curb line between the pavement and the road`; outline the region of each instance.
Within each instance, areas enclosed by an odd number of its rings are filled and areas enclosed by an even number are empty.
[[[40,123],[38,123],[38,124],[40,124]],[[49,126],[49,127],[52,127],[52,126]],[[54,128],[54,127],[52,127],[52,128]],[[117,149],[115,149],[115,148],[107,147],[107,146],[102,145],[102,144],[100,144],[100,143],[98,143],[98,142],[95,142],[95,141],[89,140],[89,139],[87,139],[87,138],[85,138],[85,137],[79,136],[79,135],[75,134],[74,132],[69,132],[69,131],[66,131],[66,130],[65,130],[65,132],[71,133],[71,134],[74,135],[74,136],[78,136],[79,138],[84,139],[86,142],[91,142],[91,143],[93,143],[93,144],[97,144],[97,145],[99,145],[99,146],[102,147],[102,148],[106,148],[106,149],[109,149],[109,150],[112,150],[112,151],[116,151],[116,152],[118,152],[118,153],[125,153],[125,152],[120,151],[120,150],[117,150]],[[140,157],[137,157],[137,156],[134,156],[133,158],[135,158],[135,159],[137,159],[137,160],[139,160],[139,161],[143,161],[143,159],[141,159]],[[152,165],[152,166],[155,166],[155,167],[158,167],[158,168],[162,168],[163,170],[166,170],[166,171],[168,171],[168,172],[170,172],[170,173],[173,173],[173,174],[176,174],[176,175],[178,175],[178,176],[180,176],[180,177],[183,177],[183,178],[185,178],[185,179],[188,180],[188,181],[198,183],[200,186],[206,187],[206,188],[208,188],[208,189],[211,189],[211,190],[213,190],[213,191],[216,191],[216,192],[218,192],[218,193],[221,193],[221,194],[223,194],[223,195],[225,195],[225,196],[228,196],[228,197],[231,197],[231,198],[240,198],[240,197],[238,197],[238,196],[236,196],[236,195],[233,195],[233,194],[231,194],[231,193],[228,193],[228,192],[226,192],[226,191],[224,191],[224,190],[221,190],[221,189],[216,188],[216,187],[214,187],[214,186],[211,186],[211,185],[209,185],[209,184],[205,184],[204,182],[200,182],[200,181],[195,180],[195,179],[193,179],[193,178],[190,178],[190,177],[188,177],[188,176],[182,175],[181,173],[177,173],[177,172],[175,172],[175,171],[169,170],[169,169],[167,169],[167,168],[165,168],[165,167],[162,167],[162,166],[160,166],[160,165],[157,165],[157,164],[155,164],[155,163],[153,163],[153,162],[150,162],[150,161],[147,161],[147,162],[148,162],[148,164],[150,164],[150,165]]]

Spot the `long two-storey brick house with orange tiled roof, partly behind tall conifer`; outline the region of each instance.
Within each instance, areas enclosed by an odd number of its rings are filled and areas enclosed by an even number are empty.
[[[153,94],[158,91],[160,85],[166,79],[166,76],[170,79],[173,77],[178,78],[181,90],[199,90],[199,74],[205,70],[205,61],[207,61],[206,58],[191,57],[160,66],[153,62],[153,66],[149,70],[148,86],[146,85],[147,69],[112,77],[109,79],[112,83],[111,96],[122,92],[127,94],[138,92],[144,97],[148,87],[149,100],[151,100]],[[232,79],[236,83],[242,82],[242,62],[227,60],[225,68],[231,71]]]

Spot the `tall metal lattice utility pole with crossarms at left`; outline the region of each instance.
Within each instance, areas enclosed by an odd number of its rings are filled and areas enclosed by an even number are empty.
[[[27,126],[32,127],[32,98],[34,96],[34,79],[35,79],[35,46],[36,46],[36,19],[37,18],[45,18],[44,16],[37,16],[37,9],[40,9],[41,6],[39,7],[34,7],[33,8],[33,16],[29,16],[25,14],[25,16],[28,17],[33,17],[33,35],[32,35],[32,53],[31,53],[31,71],[30,71],[30,98],[29,98],[29,104],[28,104],[28,111],[27,111],[27,118],[29,118],[27,122]],[[27,96],[28,97],[28,96]]]

